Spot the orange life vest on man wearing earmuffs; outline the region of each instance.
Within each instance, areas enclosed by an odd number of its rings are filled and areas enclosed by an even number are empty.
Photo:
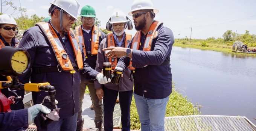
[[[125,37],[125,48],[128,48],[129,45],[129,41],[131,40],[131,34],[125,33],[126,37]],[[115,40],[114,40],[114,36],[113,33],[108,33],[107,34],[107,44],[108,47],[115,47]],[[117,64],[117,58],[109,58],[109,62],[111,62],[111,66],[112,69],[114,70]]]

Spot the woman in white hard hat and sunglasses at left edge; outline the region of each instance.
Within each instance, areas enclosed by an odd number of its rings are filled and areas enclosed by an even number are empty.
[[[15,33],[17,30],[17,23],[14,18],[9,14],[0,15],[0,49],[5,46],[14,46],[18,47],[19,41],[15,39]],[[0,80],[7,80],[6,76],[0,75]],[[1,89],[1,92],[8,98],[8,88]],[[22,103],[23,105],[23,103]],[[21,107],[21,109],[23,109]],[[16,110],[16,109],[14,109]]]

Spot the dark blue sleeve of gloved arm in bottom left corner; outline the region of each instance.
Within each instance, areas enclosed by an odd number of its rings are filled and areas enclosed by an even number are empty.
[[[27,109],[0,113],[0,131],[23,131],[28,126]]]

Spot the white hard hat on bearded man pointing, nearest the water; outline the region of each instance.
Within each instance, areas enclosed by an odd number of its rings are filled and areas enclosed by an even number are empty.
[[[131,6],[131,11],[128,13],[128,15],[133,16],[132,12],[145,9],[152,9],[154,10],[154,13],[159,12],[159,10],[153,7],[153,4],[150,0],[134,0]]]

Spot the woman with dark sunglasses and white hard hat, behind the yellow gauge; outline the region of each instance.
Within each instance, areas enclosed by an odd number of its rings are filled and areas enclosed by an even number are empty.
[[[0,49],[5,46],[12,46],[18,48],[19,41],[15,39],[15,34],[18,32],[17,23],[15,19],[9,14],[0,15]],[[0,75],[0,80],[6,81],[6,76]],[[22,99],[15,104],[11,104],[11,110],[24,109],[23,97],[24,89],[17,90],[15,93],[8,91],[8,88],[1,89],[1,92],[8,98],[13,95],[15,97],[21,96]]]

